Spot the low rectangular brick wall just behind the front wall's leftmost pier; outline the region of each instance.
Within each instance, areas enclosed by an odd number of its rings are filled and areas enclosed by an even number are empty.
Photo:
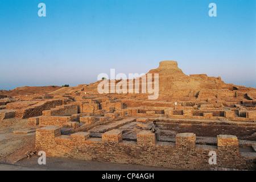
[[[69,116],[40,116],[39,126],[63,126],[63,123],[70,121]]]

